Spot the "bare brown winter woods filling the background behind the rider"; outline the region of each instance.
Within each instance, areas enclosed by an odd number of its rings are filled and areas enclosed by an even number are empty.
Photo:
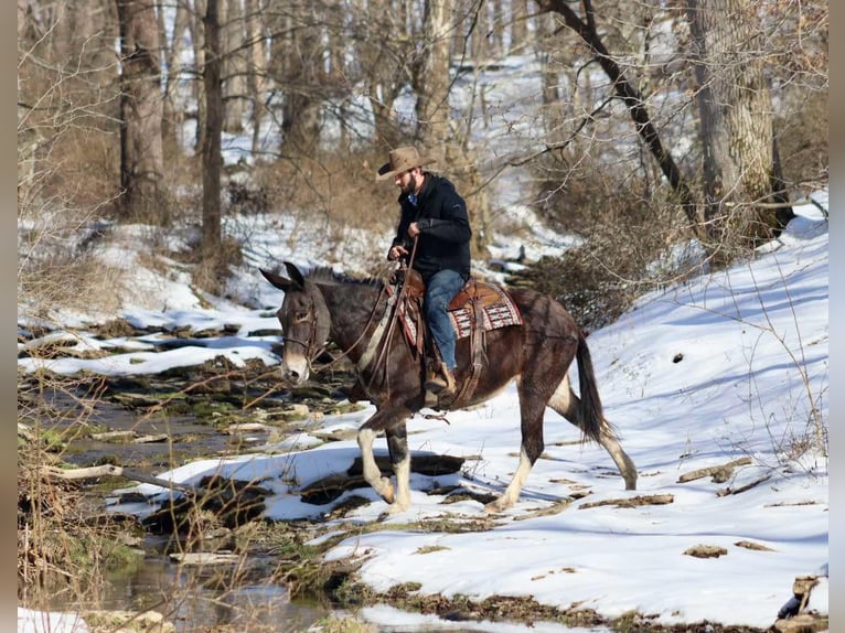
[[[577,236],[509,282],[586,329],[750,256],[827,184],[823,1],[19,0],[17,28],[19,318],[116,311],[131,271],[92,248],[116,225],[210,293],[243,257],[228,214],[388,232],[373,175],[408,143],[467,197],[478,261],[521,206]],[[527,64],[534,92],[491,99],[482,75]]]

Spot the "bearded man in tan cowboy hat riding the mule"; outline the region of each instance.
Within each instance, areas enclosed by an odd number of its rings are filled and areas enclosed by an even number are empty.
[[[376,181],[393,180],[399,187],[402,215],[396,237],[387,253],[395,261],[417,249],[411,267],[426,283],[424,310],[442,364],[426,382],[426,389],[439,396],[454,395],[454,330],[449,302],[470,276],[470,229],[467,205],[454,185],[442,176],[424,171],[435,159],[424,158],[414,147],[393,150]]]

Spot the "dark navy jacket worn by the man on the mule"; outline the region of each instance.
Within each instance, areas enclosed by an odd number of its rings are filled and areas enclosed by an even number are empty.
[[[408,226],[419,226],[414,268],[428,282],[442,269],[457,270],[464,280],[470,277],[470,221],[463,199],[449,180],[426,172],[426,182],[419,192],[416,206],[407,194],[399,196],[402,217],[391,248],[403,245],[411,251],[414,240],[408,237]]]

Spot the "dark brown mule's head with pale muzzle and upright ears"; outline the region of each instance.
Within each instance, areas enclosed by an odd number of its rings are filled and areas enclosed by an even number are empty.
[[[281,308],[276,311],[284,335],[281,375],[301,384],[308,379],[311,362],[325,348],[331,315],[320,288],[289,261],[285,268],[289,278],[260,270],[267,281],[285,291]]]

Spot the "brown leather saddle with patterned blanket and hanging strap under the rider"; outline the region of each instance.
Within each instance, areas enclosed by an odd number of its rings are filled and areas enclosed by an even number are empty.
[[[430,361],[429,364],[436,366],[439,363],[437,347],[430,344],[421,309],[426,285],[419,273],[413,269],[405,271],[403,283],[404,300],[397,307],[403,332],[420,357],[427,357]],[[449,302],[449,316],[456,339],[470,339],[469,376],[458,389],[453,403],[468,401],[481,374],[481,360],[484,354],[483,333],[507,325],[522,325],[522,314],[506,290],[500,286],[470,278]],[[426,354],[427,347],[431,353]]]

